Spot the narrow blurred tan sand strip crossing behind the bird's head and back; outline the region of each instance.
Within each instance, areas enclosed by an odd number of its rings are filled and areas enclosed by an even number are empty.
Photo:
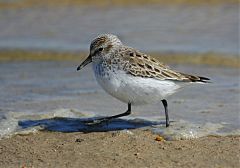
[[[227,66],[239,68],[240,61],[235,54],[208,53],[175,53],[175,52],[148,52],[167,64],[196,64],[211,66]],[[10,61],[83,61],[88,52],[56,52],[36,50],[0,50],[0,62]]]

